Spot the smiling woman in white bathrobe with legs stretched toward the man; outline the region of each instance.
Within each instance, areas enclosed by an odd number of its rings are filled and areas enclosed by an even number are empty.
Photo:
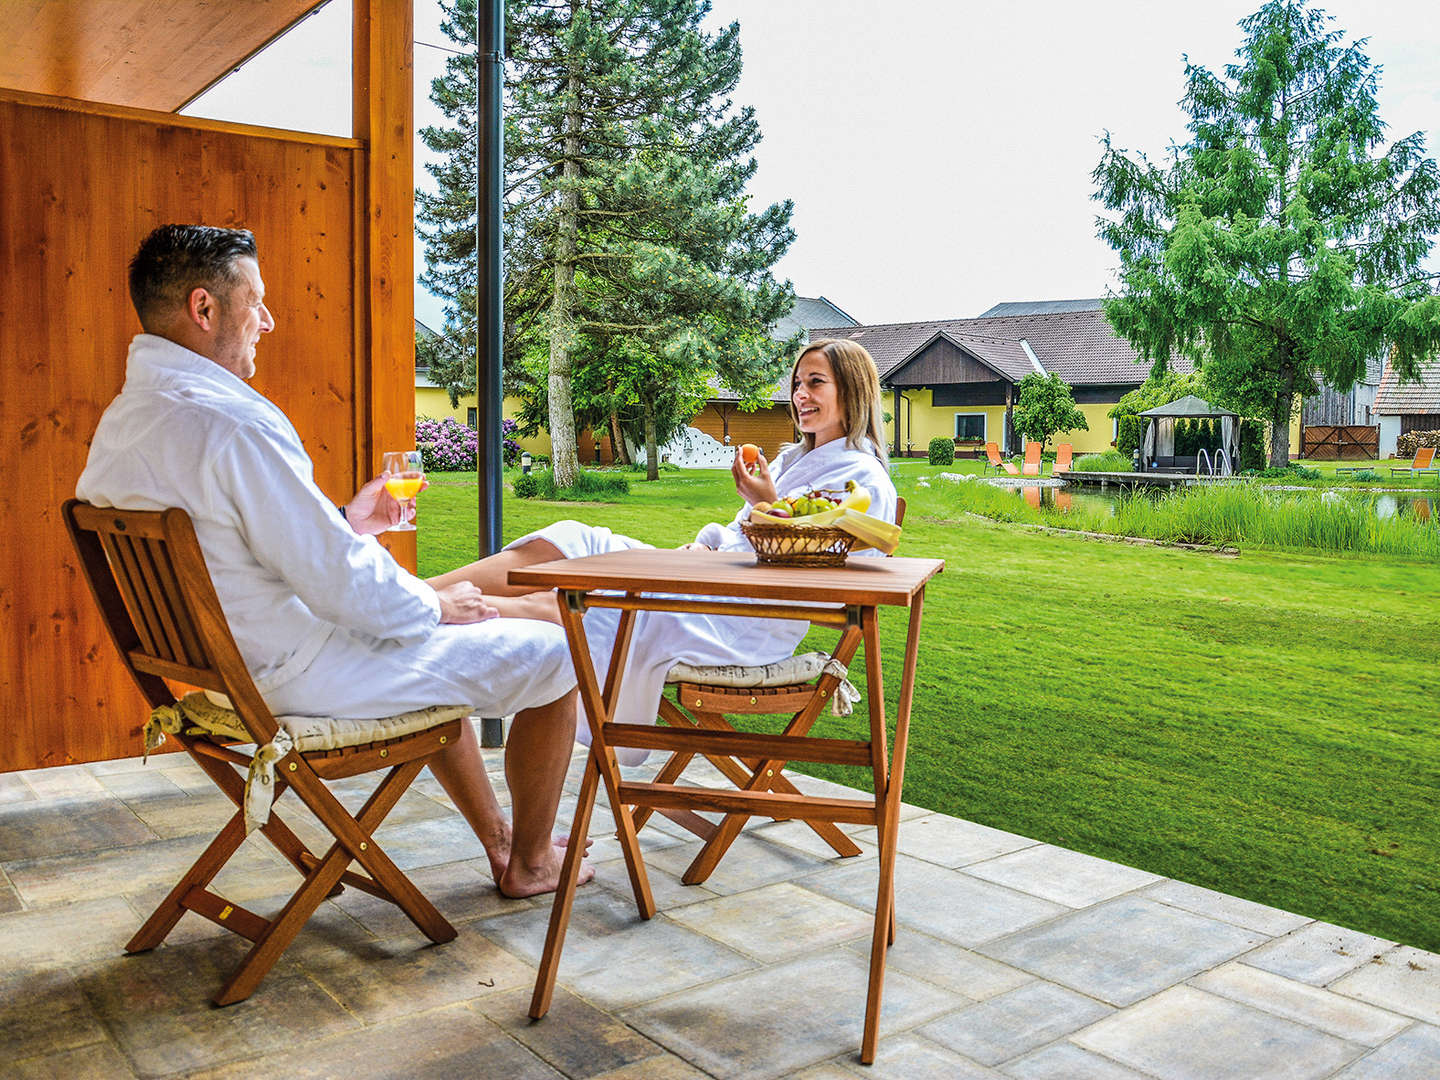
[[[707,524],[687,547],[749,550],[740,523],[749,517],[752,505],[815,488],[844,488],[851,480],[871,494],[867,513],[894,521],[896,490],[884,456],[880,379],[870,353],[847,340],[806,346],[791,372],[791,413],[801,441],[782,449],[773,467],[760,455],[747,468],[736,451],[732,472],[744,505],[729,526]],[[527,590],[507,583],[511,569],[632,547],[649,544],[602,526],[557,521],[520,537],[490,559],[432,579],[432,585],[439,588],[467,579],[487,593],[518,596]],[[549,603],[549,598],[536,596],[536,600],[537,606]],[[619,612],[611,608],[592,608],[585,613],[586,638],[598,671],[609,667],[618,622]],[[795,619],[638,612],[615,720],[654,723],[665,674],[677,662],[770,664],[789,657],[806,629],[808,624]],[[583,727],[580,737],[589,742]]]

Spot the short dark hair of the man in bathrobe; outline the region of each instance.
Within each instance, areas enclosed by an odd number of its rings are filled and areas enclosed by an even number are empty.
[[[256,258],[249,229],[161,225],[130,261],[130,302],[147,330],[166,311],[183,307],[199,287],[225,292],[239,284],[238,259]]]

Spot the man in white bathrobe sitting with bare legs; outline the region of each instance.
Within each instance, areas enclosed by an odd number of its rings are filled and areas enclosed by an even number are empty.
[[[374,540],[405,508],[372,480],[343,508],[315,487],[285,415],[246,380],[274,330],[246,230],[163,226],[130,266],[145,333],[101,418],[76,495],[180,507],[255,684],[275,713],[370,719],[433,704],[516,713],[505,775],[514,827],[474,732],[432,770],[507,896],[554,888],[552,841],[575,740],[575,674],[550,596],[485,596],[415,577]],[[588,874],[589,876],[589,874]]]

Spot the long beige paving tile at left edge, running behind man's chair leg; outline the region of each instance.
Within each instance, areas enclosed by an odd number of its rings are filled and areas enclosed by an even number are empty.
[[[157,840],[128,848],[9,863],[4,870],[30,907],[98,900],[157,887],[168,891],[209,842],[209,837]],[[262,838],[252,837],[230,855],[222,873],[275,868],[278,864],[268,848]],[[294,871],[287,868],[287,873]]]

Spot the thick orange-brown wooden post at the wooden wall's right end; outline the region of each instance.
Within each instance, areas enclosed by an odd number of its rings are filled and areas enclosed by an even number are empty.
[[[384,451],[415,446],[415,12],[412,0],[353,3],[351,131],[364,143],[357,393],[369,405],[356,431],[356,480],[364,482]],[[416,569],[415,533],[382,541]]]

